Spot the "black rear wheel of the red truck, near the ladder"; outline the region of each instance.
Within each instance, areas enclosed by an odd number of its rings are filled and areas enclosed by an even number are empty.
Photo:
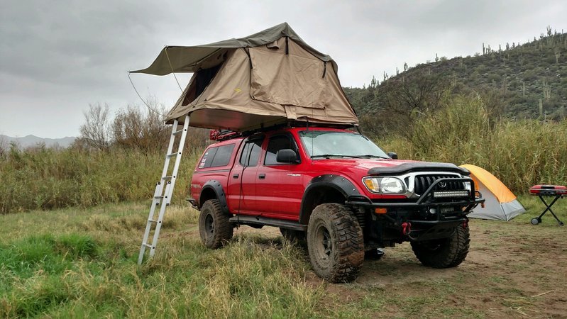
[[[216,249],[232,238],[233,225],[229,218],[221,210],[218,200],[209,199],[203,204],[199,215],[199,235],[203,245]]]

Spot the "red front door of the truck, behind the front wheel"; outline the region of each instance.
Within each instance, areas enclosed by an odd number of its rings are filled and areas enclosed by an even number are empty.
[[[289,133],[270,136],[265,157],[255,174],[255,205],[263,216],[297,220],[304,192],[302,164],[297,143]],[[297,163],[280,163],[277,151],[292,149]]]

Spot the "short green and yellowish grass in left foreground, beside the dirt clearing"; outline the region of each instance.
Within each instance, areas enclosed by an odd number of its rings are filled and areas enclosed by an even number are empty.
[[[196,211],[168,212],[156,258],[138,267],[146,207],[1,216],[0,317],[308,318],[321,290],[304,254],[277,237],[207,250]]]

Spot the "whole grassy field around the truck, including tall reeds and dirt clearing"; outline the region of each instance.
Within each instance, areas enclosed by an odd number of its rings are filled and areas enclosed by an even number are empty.
[[[567,121],[502,121],[470,96],[447,103],[378,144],[403,159],[477,164],[516,194],[567,184]],[[201,154],[191,150],[180,172]],[[224,249],[204,249],[182,174],[157,255],[138,267],[162,165],[161,153],[120,148],[0,150],[0,318],[566,317],[567,228],[550,214],[530,225],[544,206],[529,196],[510,222],[472,220],[455,269],[422,267],[404,243],[336,285],[275,228],[241,227]],[[554,211],[567,222],[567,201]]]

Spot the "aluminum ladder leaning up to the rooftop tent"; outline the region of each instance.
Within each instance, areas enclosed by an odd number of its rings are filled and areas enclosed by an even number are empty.
[[[185,116],[185,122],[183,123],[183,128],[181,130],[177,130],[178,123],[179,121],[177,119],[173,121],[170,144],[169,146],[167,146],[167,153],[165,154],[165,163],[163,164],[161,179],[160,181],[158,181],[158,184],[155,185],[152,206],[150,207],[148,223],[145,225],[145,232],[142,240],[142,246],[140,248],[140,256],[138,257],[138,264],[142,264],[145,250],[147,248],[150,249],[150,258],[152,258],[155,254],[155,247],[158,245],[158,237],[160,235],[161,226],[163,224],[165,209],[167,208],[167,206],[170,206],[171,203],[171,197],[173,194],[173,189],[175,187],[175,180],[177,179],[177,170],[179,169],[183,147],[185,146],[185,138],[187,137],[187,128],[189,128],[189,116]],[[180,136],[180,138],[177,152],[173,152],[173,147],[178,136]],[[170,173],[169,169],[172,158],[175,158],[175,164],[173,165],[172,172]],[[160,207],[160,210],[158,213],[158,218],[155,218],[155,208],[158,206]],[[148,239],[150,238],[150,233],[152,230],[154,230],[153,240],[150,243],[148,242]]]

